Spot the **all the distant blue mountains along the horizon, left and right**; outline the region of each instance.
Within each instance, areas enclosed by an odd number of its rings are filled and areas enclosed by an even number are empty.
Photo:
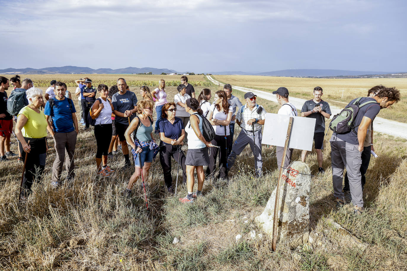
[[[177,73],[172,69],[157,69],[151,67],[136,68],[127,67],[123,69],[91,69],[89,67],[63,66],[63,67],[47,67],[42,69],[24,68],[24,69],[0,69],[0,74],[166,74]],[[196,71],[195,71],[196,72]],[[283,69],[273,72],[209,72],[210,74],[225,74],[225,75],[260,75],[260,76],[288,76],[288,77],[325,77],[325,76],[359,76],[371,74],[393,74],[398,72],[375,72],[375,71],[346,71],[341,69]],[[183,74],[183,72],[178,72]]]

